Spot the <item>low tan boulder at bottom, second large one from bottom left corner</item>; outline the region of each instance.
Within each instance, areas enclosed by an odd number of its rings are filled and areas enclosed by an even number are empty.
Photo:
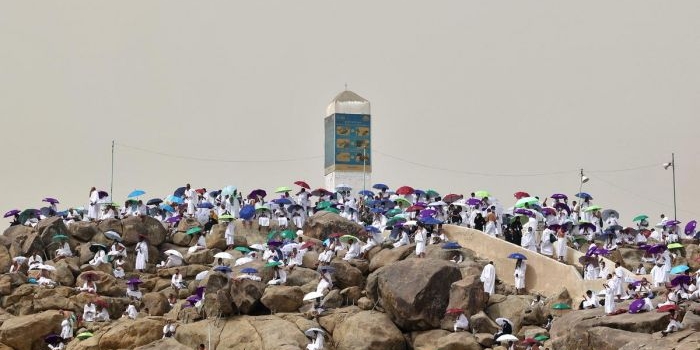
[[[120,318],[100,337],[100,349],[133,349],[163,337],[163,319],[143,317]]]

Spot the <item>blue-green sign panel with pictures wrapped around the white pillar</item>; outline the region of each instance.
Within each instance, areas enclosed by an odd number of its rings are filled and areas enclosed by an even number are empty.
[[[336,113],[326,117],[326,174],[371,171],[370,120],[369,115],[363,114]]]

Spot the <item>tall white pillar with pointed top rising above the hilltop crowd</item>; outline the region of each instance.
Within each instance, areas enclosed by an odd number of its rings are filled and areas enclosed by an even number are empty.
[[[326,109],[326,189],[348,185],[353,192],[372,187],[372,126],[369,101],[345,90]]]

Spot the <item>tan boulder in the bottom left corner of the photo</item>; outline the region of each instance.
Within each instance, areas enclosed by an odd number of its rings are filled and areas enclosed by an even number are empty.
[[[0,326],[0,343],[14,349],[43,350],[44,337],[60,334],[63,317],[58,311],[44,311],[32,315],[13,317]]]

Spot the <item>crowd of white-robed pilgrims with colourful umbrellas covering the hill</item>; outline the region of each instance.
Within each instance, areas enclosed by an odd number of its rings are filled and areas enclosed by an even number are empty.
[[[569,202],[565,194],[553,194],[541,199],[518,192],[515,193],[515,205],[504,208],[499,200],[486,191],[473,192],[469,196],[457,194],[441,196],[433,190],[421,191],[402,186],[391,191],[386,185],[376,184],[373,186],[373,191],[353,192],[349,186],[341,185],[331,192],[325,189],[312,191],[303,181],[297,181],[295,184],[299,186],[297,190],[289,187],[277,188],[275,190],[277,198],[272,200],[267,200],[266,191],[261,189],[243,196],[232,186],[208,191],[205,188],[195,189],[187,184],[163,199],[154,198],[144,203],[139,197],[145,192],[137,190],[133,196],[135,198],[128,199],[121,206],[112,202],[108,193],[93,187],[90,189],[87,209],[74,207],[59,210],[58,200],[46,198],[44,201],[48,204],[40,210],[22,212],[12,210],[5,217],[12,220],[11,225],[36,226],[40,220],[47,217],[60,216],[64,223],[70,226],[77,221],[150,216],[162,222],[171,234],[176,232],[180,220],[190,217],[197,219],[201,227],[188,232],[197,237],[193,240],[194,244],[189,248],[189,253],[206,248],[205,237],[218,223],[226,225],[224,236],[228,249],[234,248],[236,220],[240,220],[244,227],[249,228],[253,228],[253,224],[257,223],[255,225],[257,230],[272,235],[270,241],[245,247],[241,251],[246,254],[232,261],[233,265],[242,266],[262,259],[267,262],[267,267],[274,270],[274,278],[268,283],[284,284],[288,271],[301,265],[305,252],[309,249],[317,249],[318,266],[321,272],[316,290],[319,296],[323,296],[333,288],[333,269],[329,264],[336,256],[344,260],[363,259],[374,246],[398,248],[413,242],[416,244],[415,254],[418,257],[424,257],[428,244],[453,244],[447,242],[447,237],[442,230],[443,224],[452,224],[501,237],[510,243],[562,262],[565,262],[567,247],[585,249],[586,254],[580,260],[583,265],[583,278],[602,279],[604,283],[600,292],[588,291],[583,296],[580,308],[598,307],[602,304],[610,314],[616,311],[615,301],[622,299],[643,300],[644,309],[651,309],[676,305],[683,300],[700,297],[698,288],[700,281],[697,276],[691,275],[688,269],[680,273],[676,273],[677,271],[672,273],[674,259],[680,253],[680,250],[673,247],[682,247],[678,244],[681,239],[698,238],[694,222],[688,223],[685,230],[679,230],[680,222],[661,215],[658,224],[650,227],[649,217],[639,215],[633,219],[633,227],[623,227],[617,211],[603,210],[600,206],[594,205],[592,196],[587,193],[578,193],[575,195],[576,200]],[[334,234],[324,241],[322,247],[304,242],[303,231],[301,231],[304,222],[318,211],[334,212],[345,219],[357,222],[364,226],[364,234],[357,237]],[[114,238],[113,244],[111,247],[94,245],[95,249],[91,246],[91,251],[95,255],[89,261],[90,265],[96,267],[100,264],[112,264],[114,276],[124,278],[124,259],[127,254],[133,253],[136,255],[135,270],[141,272],[146,269],[149,257],[148,241],[145,237],[141,237],[133,252],[127,252],[127,248],[120,242],[119,233],[106,232],[105,235]],[[54,260],[73,255],[67,239],[58,237],[57,243],[59,246],[54,252]],[[674,246],[674,244],[677,245]],[[621,246],[634,246],[645,250],[643,263],[635,269],[634,273],[636,275],[649,273],[651,281],[646,277],[636,280],[634,276],[626,276],[619,262],[615,267],[607,267],[605,262],[599,259]],[[184,264],[180,253],[166,252],[166,254],[167,259],[159,262],[157,268],[171,268]],[[226,261],[230,258],[230,254],[228,256],[227,253],[220,254],[222,255],[217,254],[213,270],[227,272],[234,280],[260,280],[257,271],[252,268],[244,269],[243,271],[246,272],[238,276],[232,276],[229,263]],[[462,261],[462,256],[457,253],[452,260],[459,263]],[[653,267],[648,271],[644,263]],[[515,285],[518,290],[522,290],[525,283],[525,262],[519,259],[516,264]],[[27,258],[13,259],[10,273],[20,271],[23,265],[26,265],[30,271],[38,272],[37,278],[31,281],[32,283],[48,287],[56,285],[51,279],[51,272],[55,268],[43,263],[41,252],[32,252]],[[679,276],[681,280],[678,280]],[[198,276],[200,277],[202,276]],[[489,294],[494,293],[495,270],[492,263],[484,269],[482,281],[485,282],[485,291]],[[125,290],[125,295],[134,301],[142,297],[138,288],[139,283],[138,279],[130,280]],[[627,284],[626,288],[625,284]],[[650,299],[653,298],[651,289],[659,286],[668,288],[667,300],[653,306]],[[172,276],[172,287],[175,292],[184,287],[179,271]],[[90,280],[90,275],[87,275],[85,283],[76,289],[99,294],[98,286]],[[198,290],[199,300],[192,299],[194,307],[201,307],[201,293],[202,291]],[[598,301],[598,295],[604,295],[605,302]],[[171,294],[169,300],[172,305],[177,298]],[[314,312],[317,314],[323,312],[320,297],[311,300],[315,300]],[[138,315],[136,305],[131,303],[123,317],[136,318]],[[81,319],[85,322],[107,321],[110,316],[106,310],[104,305],[90,302],[85,305]],[[68,316],[69,314],[66,312],[66,320],[62,324],[61,337],[65,340],[73,337],[75,317]],[[166,324],[164,336],[172,336],[174,327],[172,323]],[[464,328],[468,328],[468,321],[465,323],[465,317],[462,314],[461,317],[456,318],[455,331]],[[674,323],[669,325],[667,331],[678,328],[680,325]],[[312,342],[308,349],[323,348],[323,337],[319,337],[319,334],[312,334]],[[62,342],[58,343],[56,349],[59,349],[58,346],[63,346],[62,344]]]

